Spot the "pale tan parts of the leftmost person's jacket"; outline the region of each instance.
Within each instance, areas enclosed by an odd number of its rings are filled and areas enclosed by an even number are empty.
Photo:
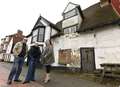
[[[23,43],[22,42],[16,43],[14,48],[13,48],[13,55],[14,56],[18,56],[21,53],[21,51],[22,51],[22,47],[23,47]],[[28,46],[26,44],[26,56],[27,56],[27,52],[28,52]]]

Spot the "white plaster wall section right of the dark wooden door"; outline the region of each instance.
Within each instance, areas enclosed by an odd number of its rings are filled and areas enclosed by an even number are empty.
[[[120,27],[109,26],[103,29],[96,32],[96,68],[101,68],[101,63],[120,63]]]

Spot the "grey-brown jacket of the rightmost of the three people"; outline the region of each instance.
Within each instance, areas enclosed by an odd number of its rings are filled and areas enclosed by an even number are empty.
[[[51,65],[54,63],[54,53],[53,53],[53,47],[45,47],[43,53],[42,53],[42,62],[43,64]]]

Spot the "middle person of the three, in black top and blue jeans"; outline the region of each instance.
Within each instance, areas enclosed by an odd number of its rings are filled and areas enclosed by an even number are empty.
[[[34,45],[31,46],[28,52],[28,58],[29,58],[28,72],[23,84],[29,83],[30,81],[35,81],[36,65],[40,60],[40,56],[41,56],[41,51],[38,46],[38,43],[34,43]]]

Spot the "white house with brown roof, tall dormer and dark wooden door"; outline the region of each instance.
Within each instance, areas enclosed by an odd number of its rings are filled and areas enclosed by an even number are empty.
[[[101,63],[120,63],[120,17],[111,0],[101,0],[83,11],[70,2],[62,15],[56,24],[62,33],[51,37],[54,65],[91,72],[100,69]]]

